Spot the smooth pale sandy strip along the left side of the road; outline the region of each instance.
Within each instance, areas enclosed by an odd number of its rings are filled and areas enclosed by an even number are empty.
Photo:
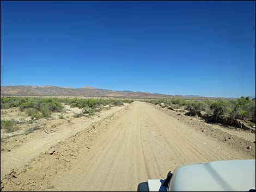
[[[1,179],[13,168],[19,168],[31,161],[32,158],[39,156],[40,153],[47,150],[59,141],[69,138],[71,135],[76,134],[86,129],[90,123],[102,120],[109,114],[118,112],[123,107],[112,107],[104,111],[100,116],[94,116],[90,119],[82,117],[80,119],[73,119],[71,123],[63,123],[58,127],[58,131],[45,134],[36,134],[35,137],[29,138],[26,143],[11,150],[11,152],[1,152]]]

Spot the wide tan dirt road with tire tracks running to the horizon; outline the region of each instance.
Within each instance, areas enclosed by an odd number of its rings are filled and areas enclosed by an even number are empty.
[[[3,190],[130,191],[182,164],[255,158],[145,102],[133,102],[54,149],[17,171],[16,184],[5,179]]]

